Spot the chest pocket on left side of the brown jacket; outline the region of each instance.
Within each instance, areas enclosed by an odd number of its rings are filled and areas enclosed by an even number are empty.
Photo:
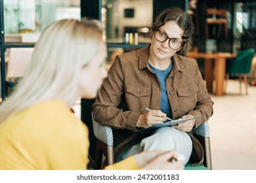
[[[144,112],[145,107],[150,105],[151,88],[144,86],[127,86],[125,99],[128,110]]]

